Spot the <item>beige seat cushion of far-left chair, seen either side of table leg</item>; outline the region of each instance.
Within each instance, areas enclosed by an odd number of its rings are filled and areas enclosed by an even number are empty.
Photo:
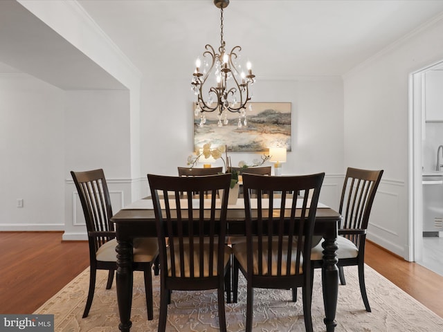
[[[117,240],[107,241],[103,246],[98,248],[96,259],[98,261],[117,261]],[[156,237],[137,238],[133,241],[133,252],[135,262],[148,262],[154,260],[159,252],[159,241]]]

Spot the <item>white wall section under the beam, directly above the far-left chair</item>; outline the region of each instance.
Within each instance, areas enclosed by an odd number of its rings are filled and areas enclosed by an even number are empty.
[[[66,176],[103,168],[109,178],[129,178],[129,91],[66,91]]]

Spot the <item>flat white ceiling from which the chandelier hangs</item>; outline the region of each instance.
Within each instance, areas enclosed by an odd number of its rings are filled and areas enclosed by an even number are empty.
[[[219,46],[213,0],[78,2],[145,75],[190,77],[204,46]],[[343,75],[442,12],[442,0],[230,0],[224,39],[258,77]]]

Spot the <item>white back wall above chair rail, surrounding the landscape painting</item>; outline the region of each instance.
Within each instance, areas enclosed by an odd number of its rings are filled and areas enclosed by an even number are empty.
[[[162,81],[146,75],[142,84],[142,174],[176,175],[193,151],[192,98],[189,80]],[[343,82],[341,77],[294,77],[260,80],[253,102],[291,102],[292,151],[284,174],[326,172],[343,175]],[[230,124],[233,125],[233,124]],[[260,152],[230,152],[233,165],[251,163]],[[219,161],[215,166],[222,166]],[[273,165],[269,163],[269,165]],[[145,185],[147,194],[147,185]]]

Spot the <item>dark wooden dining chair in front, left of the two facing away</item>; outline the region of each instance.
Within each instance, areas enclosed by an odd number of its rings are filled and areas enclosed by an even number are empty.
[[[230,293],[230,247],[225,241],[230,174],[147,174],[147,179],[160,251],[159,332],[166,329],[171,291],[209,289],[217,289],[219,329],[226,331],[224,290],[226,284]],[[217,190],[224,192],[221,200]]]

